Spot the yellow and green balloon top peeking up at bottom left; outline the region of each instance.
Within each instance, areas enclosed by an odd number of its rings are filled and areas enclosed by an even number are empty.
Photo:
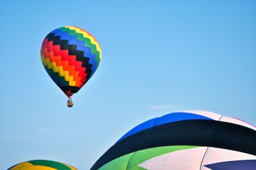
[[[29,160],[21,162],[7,170],[77,170],[68,164],[55,162],[52,160]]]

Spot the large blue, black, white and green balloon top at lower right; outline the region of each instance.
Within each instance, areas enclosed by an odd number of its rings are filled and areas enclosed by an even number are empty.
[[[121,137],[91,168],[105,170],[256,169],[256,127],[207,111],[145,121]]]

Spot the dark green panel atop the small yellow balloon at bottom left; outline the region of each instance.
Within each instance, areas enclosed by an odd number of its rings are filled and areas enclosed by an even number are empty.
[[[72,170],[70,169],[70,167],[61,164],[60,162],[54,162],[52,160],[30,160],[28,162],[33,164],[34,166],[46,166],[60,170]]]

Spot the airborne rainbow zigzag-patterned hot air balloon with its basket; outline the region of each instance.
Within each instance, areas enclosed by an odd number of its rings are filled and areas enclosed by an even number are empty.
[[[77,93],[97,70],[101,50],[97,40],[87,31],[75,26],[54,29],[41,46],[41,59],[46,72],[67,95]]]

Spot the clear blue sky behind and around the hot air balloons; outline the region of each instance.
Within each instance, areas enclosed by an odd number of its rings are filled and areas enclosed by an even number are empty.
[[[150,118],[200,109],[256,125],[255,1],[1,1],[0,169],[81,170]],[[47,33],[82,27],[102,61],[67,97],[40,60]]]

